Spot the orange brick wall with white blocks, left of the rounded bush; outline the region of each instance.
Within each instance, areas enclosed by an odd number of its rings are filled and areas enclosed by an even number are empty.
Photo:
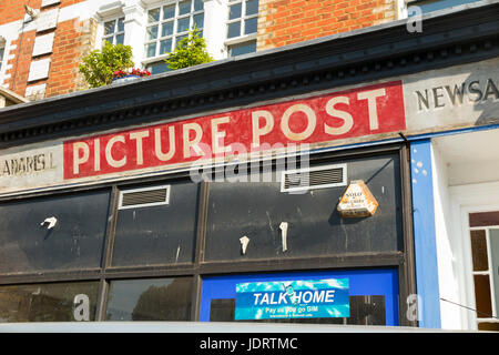
[[[45,11],[61,9],[85,0],[2,0],[0,7],[0,26],[14,22],[13,26],[22,26],[24,18],[24,4],[32,9]],[[42,3],[49,6],[41,8]],[[31,100],[53,97],[85,89],[86,84],[79,73],[78,64],[81,55],[88,53],[94,43],[96,33],[95,20],[79,21],[79,13],[74,14],[73,20],[60,22],[55,28],[39,31],[20,31],[16,40],[9,45],[9,58],[4,80],[6,85],[16,93],[28,97]],[[30,29],[33,28],[31,22]],[[24,24],[29,27],[30,24]],[[33,44],[35,40],[44,34],[54,33],[52,51],[42,55],[34,55]],[[29,81],[30,65],[33,61],[50,59],[50,69],[48,78]],[[28,90],[27,90],[28,89]]]

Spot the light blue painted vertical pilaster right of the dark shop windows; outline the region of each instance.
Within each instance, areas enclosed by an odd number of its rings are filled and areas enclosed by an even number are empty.
[[[418,321],[421,327],[440,328],[430,140],[411,142],[410,159]]]

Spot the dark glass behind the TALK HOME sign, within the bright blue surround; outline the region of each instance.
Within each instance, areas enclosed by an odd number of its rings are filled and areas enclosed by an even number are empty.
[[[385,296],[350,296],[348,318],[277,318],[242,322],[386,325]],[[210,322],[234,322],[235,298],[213,298]],[[237,321],[236,321],[237,322]]]

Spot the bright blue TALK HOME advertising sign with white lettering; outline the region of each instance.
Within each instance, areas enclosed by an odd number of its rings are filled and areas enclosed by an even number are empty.
[[[349,317],[348,278],[236,284],[235,320]]]

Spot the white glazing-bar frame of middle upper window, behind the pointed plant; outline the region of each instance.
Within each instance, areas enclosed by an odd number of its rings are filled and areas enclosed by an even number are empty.
[[[156,61],[160,61],[160,60],[169,58],[170,52],[160,53],[161,41],[171,39],[172,40],[171,51],[173,51],[175,49],[176,44],[177,44],[176,43],[177,42],[177,38],[186,36],[189,33],[189,31],[191,31],[194,28],[194,17],[198,16],[198,14],[203,14],[203,18],[204,18],[204,16],[205,16],[204,6],[203,6],[202,10],[195,10],[195,8],[194,8],[195,0],[191,0],[191,11],[189,13],[179,14],[179,11],[180,11],[180,6],[179,4],[181,2],[184,2],[184,1],[185,0],[165,1],[165,2],[162,2],[162,3],[156,3],[155,6],[150,6],[145,10],[146,23],[145,23],[145,31],[144,31],[145,33],[144,33],[144,42],[143,42],[144,55],[143,55],[143,60],[142,60],[142,64],[144,67],[147,65],[149,63],[153,63],[153,62],[156,62]],[[175,6],[175,13],[174,13],[173,18],[170,18],[167,20],[163,20],[163,9],[165,7],[171,7],[172,4]],[[160,10],[160,18],[159,18],[159,20],[154,21],[154,22],[149,22],[149,12],[152,11],[152,10],[156,10],[156,9]],[[189,20],[189,29],[186,31],[177,32],[179,20],[180,19],[185,19],[185,18],[190,19]],[[203,19],[203,27],[200,28],[201,31],[204,30],[204,21],[205,21],[205,19]],[[172,34],[162,37],[161,36],[162,26],[163,26],[163,23],[166,23],[166,22],[173,22],[173,32],[172,32]],[[147,34],[147,29],[151,28],[151,27],[154,27],[154,26],[157,26],[157,36],[156,36],[155,39],[150,40],[149,39],[149,34]],[[204,31],[203,31],[203,37],[204,37]],[[152,57],[147,57],[147,45],[152,44],[152,43],[156,44],[155,53]]]

